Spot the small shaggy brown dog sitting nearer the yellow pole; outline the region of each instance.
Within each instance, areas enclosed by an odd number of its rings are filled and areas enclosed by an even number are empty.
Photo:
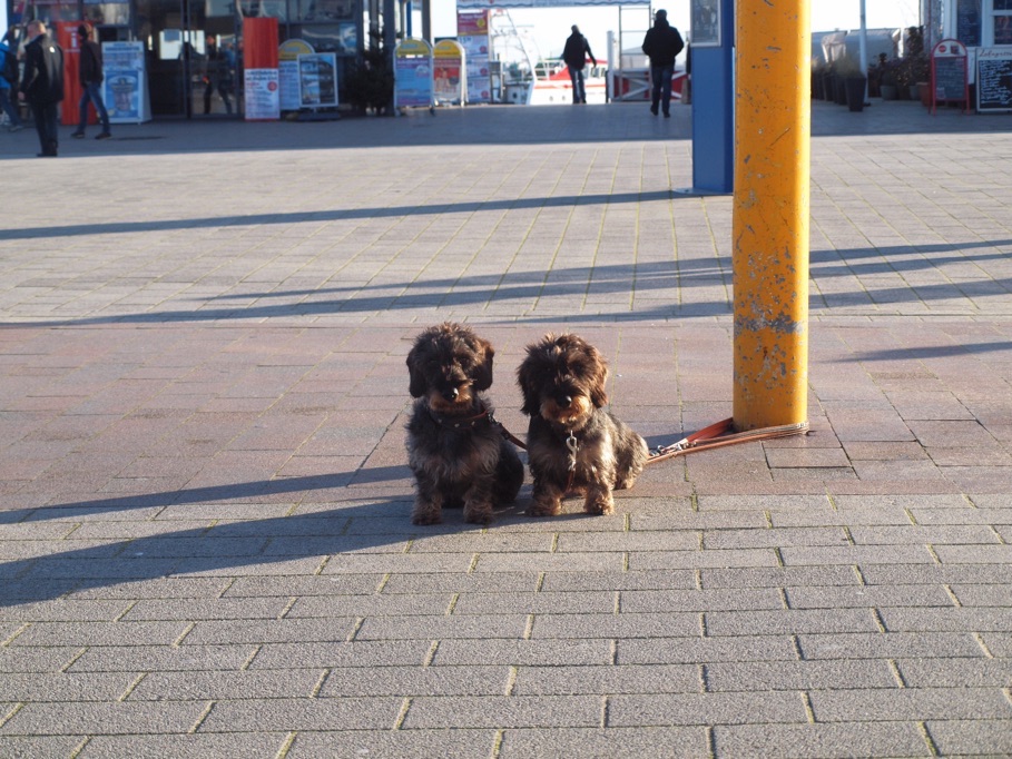
[[[646,441],[602,408],[607,377],[605,357],[576,335],[549,334],[528,346],[517,378],[530,416],[532,516],[558,514],[567,492],[583,494],[588,514],[610,514],[612,491],[631,487],[642,472]]]

